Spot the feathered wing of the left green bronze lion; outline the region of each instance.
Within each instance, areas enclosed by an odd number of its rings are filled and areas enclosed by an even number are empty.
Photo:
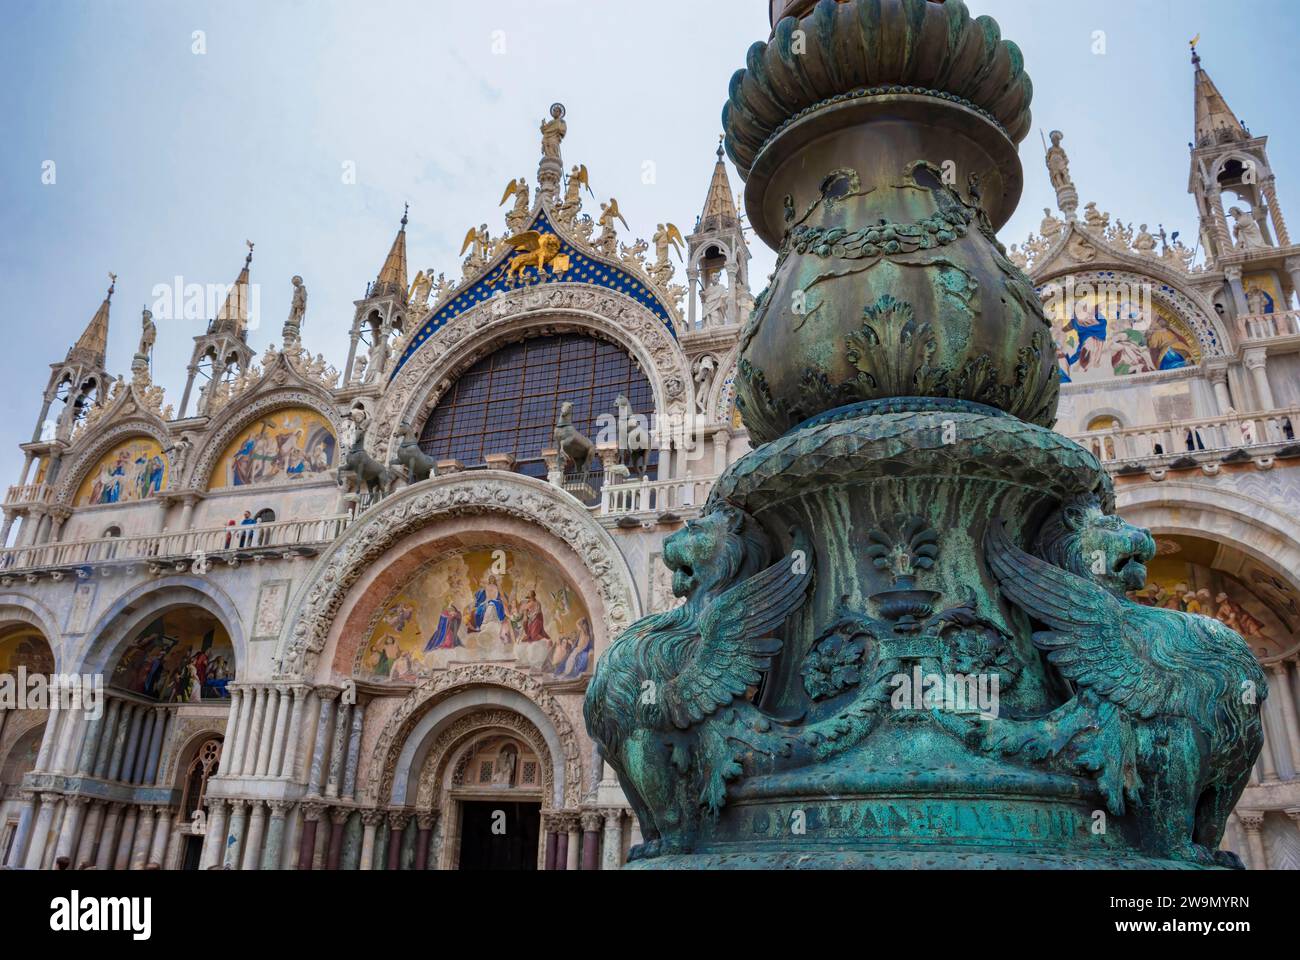
[[[811,575],[781,559],[732,587],[699,618],[701,643],[668,682],[663,704],[681,730],[698,723],[758,683],[781,641],[772,636],[802,604]]]

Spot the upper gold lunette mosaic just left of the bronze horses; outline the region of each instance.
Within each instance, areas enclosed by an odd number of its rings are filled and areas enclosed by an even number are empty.
[[[212,488],[322,479],[334,468],[337,451],[334,429],[318,412],[278,410],[230,444],[213,471]]]

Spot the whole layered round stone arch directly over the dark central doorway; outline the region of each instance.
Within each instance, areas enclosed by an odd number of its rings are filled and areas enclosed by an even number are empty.
[[[500,663],[455,667],[407,695],[376,743],[373,756],[381,769],[369,778],[373,784],[369,800],[415,807],[421,792],[420,778],[430,760],[436,771],[445,769],[465,738],[495,727],[529,740],[540,748],[540,757],[545,751],[550,760],[543,774],[543,784],[549,783],[547,805],[578,807],[582,761],[568,715],[540,680]]]

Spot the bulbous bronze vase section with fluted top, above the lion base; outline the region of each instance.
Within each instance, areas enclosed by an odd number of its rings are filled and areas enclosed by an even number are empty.
[[[750,49],[724,124],[779,247],[741,333],[757,441],[900,395],[1050,425],[1050,327],[994,235],[1020,195],[1030,96],[1019,49],[961,3],[826,0]]]

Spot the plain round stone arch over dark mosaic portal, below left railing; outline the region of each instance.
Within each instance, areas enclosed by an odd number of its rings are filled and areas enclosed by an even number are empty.
[[[159,614],[178,606],[196,606],[212,614],[230,637],[235,675],[248,663],[248,643],[239,607],[229,593],[202,576],[181,574],[143,583],[109,606],[86,632],[86,644],[74,663],[84,673],[107,674],[127,640]]]

